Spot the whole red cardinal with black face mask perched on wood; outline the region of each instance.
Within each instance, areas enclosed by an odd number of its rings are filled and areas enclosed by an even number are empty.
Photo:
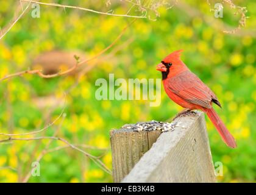
[[[212,103],[221,107],[216,95],[180,60],[180,52],[172,52],[157,65],[166,93],[172,101],[188,108],[187,112],[199,109],[206,113],[227,146],[236,147],[235,139],[212,107]]]

